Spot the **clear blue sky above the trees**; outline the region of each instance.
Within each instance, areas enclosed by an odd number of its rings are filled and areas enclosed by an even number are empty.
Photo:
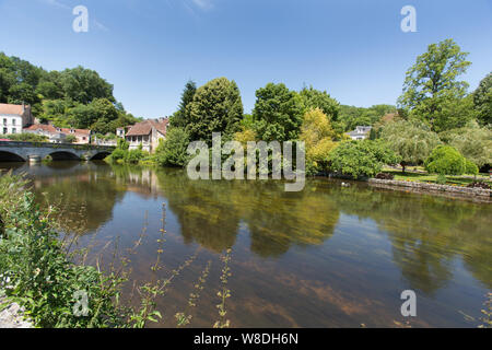
[[[79,4],[87,33],[72,31]],[[400,30],[407,4],[417,33]],[[218,77],[236,81],[246,113],[268,82],[395,104],[415,57],[448,37],[470,52],[470,89],[492,71],[492,0],[0,0],[0,51],[48,70],[94,69],[148,118],[174,113],[188,79]]]

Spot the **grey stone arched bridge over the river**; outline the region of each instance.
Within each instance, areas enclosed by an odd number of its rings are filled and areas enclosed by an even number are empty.
[[[0,141],[0,162],[37,162],[48,155],[54,161],[103,160],[114,149],[109,145]]]

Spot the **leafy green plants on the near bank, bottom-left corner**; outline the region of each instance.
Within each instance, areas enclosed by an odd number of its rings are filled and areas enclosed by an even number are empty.
[[[15,183],[8,177],[1,180]],[[10,280],[8,298],[23,305],[39,327],[122,325],[125,311],[114,304],[120,280],[107,279],[94,267],[70,262],[50,224],[52,212],[42,212],[33,195],[23,194],[16,205],[15,211],[1,211],[5,230],[0,238],[0,269]],[[87,316],[73,313],[75,291],[89,294]]]

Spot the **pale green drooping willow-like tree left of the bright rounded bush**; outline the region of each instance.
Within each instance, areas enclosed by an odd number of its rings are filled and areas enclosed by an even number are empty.
[[[441,143],[437,133],[427,126],[407,120],[386,124],[380,130],[380,139],[400,156],[403,173],[407,165],[423,163]]]

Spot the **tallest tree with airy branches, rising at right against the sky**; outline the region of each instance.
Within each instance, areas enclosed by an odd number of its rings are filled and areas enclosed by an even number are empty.
[[[466,96],[468,83],[457,79],[471,65],[467,56],[453,39],[429,45],[407,71],[399,105],[409,109],[411,117],[429,122],[434,131],[444,130],[449,119],[454,120],[452,128],[466,125],[470,114],[449,113]]]

